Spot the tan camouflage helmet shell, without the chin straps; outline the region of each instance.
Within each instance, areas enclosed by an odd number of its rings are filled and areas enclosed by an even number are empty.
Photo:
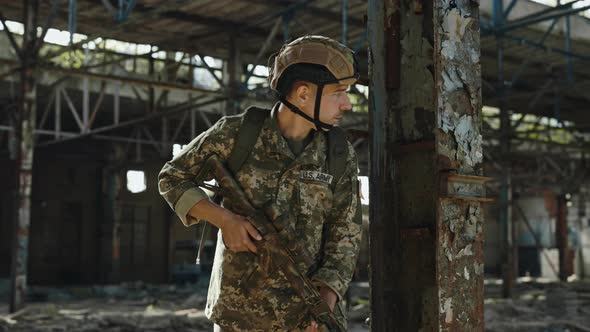
[[[286,94],[281,91],[279,83],[289,72],[288,68],[297,64],[316,65],[320,70],[292,71],[288,74],[289,81],[297,79],[316,84],[354,84],[359,77],[356,56],[350,48],[328,37],[304,36],[284,45],[274,58],[269,68],[271,89]],[[326,70],[321,70],[324,68]]]

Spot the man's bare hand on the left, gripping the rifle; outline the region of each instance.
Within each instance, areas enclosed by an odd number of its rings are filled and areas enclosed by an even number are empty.
[[[260,233],[245,217],[229,210],[226,211],[219,227],[225,245],[234,252],[251,251],[256,253],[256,245],[252,239],[262,240]]]

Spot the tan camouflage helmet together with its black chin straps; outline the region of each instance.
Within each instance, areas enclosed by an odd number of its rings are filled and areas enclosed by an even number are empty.
[[[270,88],[292,112],[312,122],[317,130],[330,130],[331,124],[320,121],[320,101],[326,84],[354,84],[359,78],[354,52],[337,41],[323,36],[304,36],[284,45],[269,65]],[[287,100],[293,82],[316,84],[313,117]]]

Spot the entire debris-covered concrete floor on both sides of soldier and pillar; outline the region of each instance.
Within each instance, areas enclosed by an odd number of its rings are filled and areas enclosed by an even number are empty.
[[[8,314],[0,304],[0,331],[173,332],[211,331],[202,309],[206,287],[142,283],[68,289],[31,288],[25,309]],[[590,331],[590,283],[522,282],[513,299],[500,297],[501,284],[486,280],[486,331]],[[349,331],[369,331],[368,284],[351,288]]]

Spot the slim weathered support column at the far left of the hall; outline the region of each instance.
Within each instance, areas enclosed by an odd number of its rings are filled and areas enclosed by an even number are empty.
[[[36,123],[36,82],[34,43],[37,39],[38,1],[25,1],[25,31],[20,49],[21,75],[17,121],[15,122],[15,230],[12,246],[10,312],[24,307],[27,290],[29,228],[31,223],[31,186],[33,180],[33,147]],[[17,50],[18,52],[19,50]]]

